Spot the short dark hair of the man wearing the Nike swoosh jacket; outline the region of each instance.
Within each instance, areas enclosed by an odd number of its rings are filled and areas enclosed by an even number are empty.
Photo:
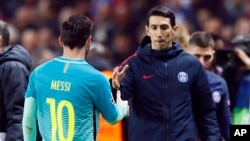
[[[165,6],[156,6],[152,8],[147,15],[147,25],[149,25],[149,18],[151,16],[161,16],[170,19],[170,24],[172,27],[175,26],[175,15],[171,9]]]

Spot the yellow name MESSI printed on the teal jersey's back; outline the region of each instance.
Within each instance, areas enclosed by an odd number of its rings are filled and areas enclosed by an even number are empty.
[[[55,91],[65,91],[70,92],[71,82],[52,80],[50,89]]]

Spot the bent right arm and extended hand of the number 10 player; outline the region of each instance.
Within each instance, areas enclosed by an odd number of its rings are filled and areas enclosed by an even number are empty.
[[[110,84],[105,76],[101,76],[96,84],[94,102],[103,118],[109,124],[115,124],[122,120],[128,113],[127,102],[121,100],[120,102],[117,102],[117,104],[115,103],[111,94]]]

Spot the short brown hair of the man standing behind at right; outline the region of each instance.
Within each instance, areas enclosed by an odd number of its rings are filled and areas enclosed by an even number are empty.
[[[214,48],[214,40],[211,34],[205,31],[194,32],[189,39],[189,44],[196,45],[202,48]]]

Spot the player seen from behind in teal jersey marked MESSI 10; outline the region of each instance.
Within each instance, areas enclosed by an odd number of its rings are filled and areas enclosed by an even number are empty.
[[[25,141],[35,140],[36,120],[44,141],[95,141],[100,113],[110,124],[127,115],[127,101],[115,103],[106,77],[85,61],[92,27],[86,16],[69,17],[60,27],[63,56],[31,73],[23,114]]]

